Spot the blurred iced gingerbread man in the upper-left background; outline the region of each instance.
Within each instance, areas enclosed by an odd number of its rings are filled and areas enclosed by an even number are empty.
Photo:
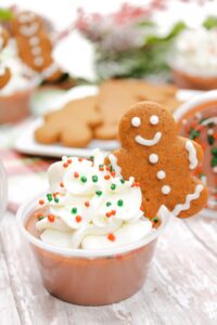
[[[43,21],[33,12],[25,11],[12,21],[12,31],[22,61],[43,79],[53,81],[62,72],[52,58],[52,42]]]

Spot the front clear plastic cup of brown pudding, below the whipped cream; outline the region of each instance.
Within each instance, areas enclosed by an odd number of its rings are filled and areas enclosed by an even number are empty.
[[[41,197],[41,196],[40,196]],[[54,297],[74,304],[104,306],[140,290],[146,280],[156,242],[169,220],[161,208],[159,225],[140,242],[115,249],[68,249],[42,242],[35,229],[37,198],[17,211],[17,224],[30,244],[43,286]]]

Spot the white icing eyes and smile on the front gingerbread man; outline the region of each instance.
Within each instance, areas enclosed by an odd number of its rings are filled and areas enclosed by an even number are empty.
[[[150,117],[151,125],[155,126],[155,125],[158,123],[158,121],[159,121],[158,116],[152,115]],[[135,128],[139,128],[141,126],[141,119],[140,119],[140,117],[138,117],[138,116],[132,117],[132,119],[131,119],[131,126],[135,127]],[[162,139],[162,132],[159,132],[159,131],[156,132],[154,134],[154,138],[152,138],[152,139],[145,139],[145,138],[143,138],[140,134],[138,134],[138,135],[135,136],[135,141],[137,143],[139,143],[141,145],[145,145],[145,146],[155,145],[155,144],[157,144],[159,142],[161,139]]]

